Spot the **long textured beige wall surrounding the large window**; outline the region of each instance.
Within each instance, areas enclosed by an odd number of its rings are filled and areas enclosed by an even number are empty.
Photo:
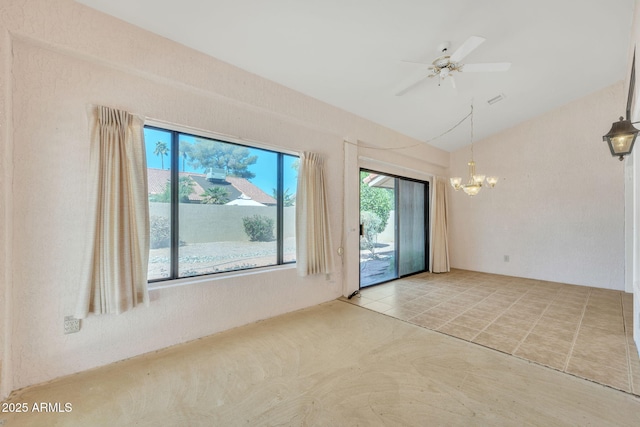
[[[357,206],[343,184],[358,155],[346,158],[343,140],[373,147],[418,141],[72,0],[3,0],[1,10],[1,396],[346,292],[336,257],[328,279],[302,279],[285,266],[154,289],[149,308],[90,316],[79,333],[63,335],[84,260],[90,104],[276,150],[319,152],[336,250],[345,239],[344,203]],[[434,171],[449,158],[427,145],[371,156]],[[357,259],[357,250],[348,245],[345,256]]]

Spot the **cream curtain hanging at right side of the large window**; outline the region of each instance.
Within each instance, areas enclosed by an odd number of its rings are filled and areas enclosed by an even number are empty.
[[[296,193],[296,263],[300,276],[332,271],[330,231],[322,157],[302,153]]]

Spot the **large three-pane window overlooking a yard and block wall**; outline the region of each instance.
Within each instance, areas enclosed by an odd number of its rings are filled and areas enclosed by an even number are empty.
[[[298,157],[145,126],[149,281],[295,262]]]

